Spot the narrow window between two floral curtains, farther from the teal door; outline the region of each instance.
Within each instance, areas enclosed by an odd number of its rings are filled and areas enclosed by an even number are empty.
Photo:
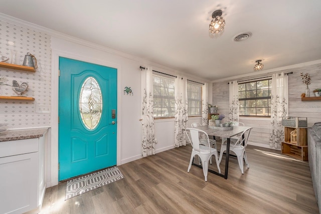
[[[187,83],[187,100],[189,116],[202,115],[202,86]]]

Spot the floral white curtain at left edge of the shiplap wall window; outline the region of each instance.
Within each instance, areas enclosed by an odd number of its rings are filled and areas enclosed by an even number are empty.
[[[230,103],[229,103],[229,120],[230,121],[239,121],[239,90],[238,83],[236,80],[230,82]]]

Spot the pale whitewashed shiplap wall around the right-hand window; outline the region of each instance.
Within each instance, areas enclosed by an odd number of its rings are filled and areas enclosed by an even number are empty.
[[[290,74],[289,77],[289,116],[307,117],[308,127],[315,122],[321,121],[321,101],[301,101],[301,93],[305,92],[306,85],[302,83],[300,73],[308,73],[311,77],[310,88],[311,96],[314,96],[313,89],[321,88],[321,64],[308,65],[298,68],[282,70],[280,72]],[[278,73],[280,73],[278,72]],[[269,75],[269,74],[268,74]],[[267,74],[263,75],[267,76]],[[257,78],[260,76],[250,76],[247,79]],[[237,79],[237,80],[245,80]],[[228,120],[229,113],[229,85],[228,81],[213,83],[213,104],[218,105],[218,113],[225,114],[225,120]],[[246,126],[253,127],[249,144],[261,147],[269,147],[269,119],[260,118],[240,118]]]

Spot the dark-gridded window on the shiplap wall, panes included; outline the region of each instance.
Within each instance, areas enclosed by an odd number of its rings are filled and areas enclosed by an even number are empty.
[[[240,116],[271,115],[271,83],[266,79],[238,85]]]

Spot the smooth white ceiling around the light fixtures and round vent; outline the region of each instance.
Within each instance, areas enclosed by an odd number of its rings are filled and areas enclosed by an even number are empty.
[[[211,38],[217,9],[226,27]],[[320,0],[2,0],[0,13],[208,80],[252,73],[257,59],[264,70],[321,59]]]

